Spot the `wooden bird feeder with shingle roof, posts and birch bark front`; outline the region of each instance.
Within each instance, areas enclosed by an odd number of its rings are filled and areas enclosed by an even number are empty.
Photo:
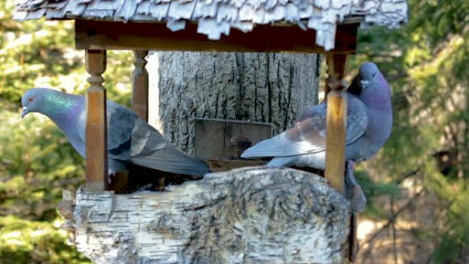
[[[62,204],[65,214],[68,208],[77,247],[86,256],[98,263],[342,263],[354,259],[354,215],[339,195],[344,191],[345,64],[356,51],[359,26],[397,27],[407,20],[405,0],[17,1],[14,19],[41,17],[75,21],[75,46],[85,51],[86,71],[91,75],[86,93],[86,190],[65,191]],[[149,50],[325,53],[327,181],[294,169],[238,169],[223,176],[213,173],[168,192],[115,195],[107,191],[106,88],[101,75],[109,49],[134,51],[132,109],[145,120]],[[287,188],[284,193],[282,188]],[[304,225],[291,224],[299,219]],[[215,227],[207,226],[211,221]],[[278,236],[273,230],[283,233]],[[229,235],[220,237],[217,232]],[[350,245],[344,247],[346,241]]]

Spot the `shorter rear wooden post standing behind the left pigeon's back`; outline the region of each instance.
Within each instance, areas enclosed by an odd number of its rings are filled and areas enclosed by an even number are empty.
[[[132,110],[148,121],[148,72],[145,69],[148,51],[134,51],[135,69],[132,73]]]

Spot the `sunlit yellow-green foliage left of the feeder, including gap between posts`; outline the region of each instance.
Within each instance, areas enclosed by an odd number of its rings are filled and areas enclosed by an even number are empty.
[[[32,87],[84,93],[84,51],[71,21],[12,21],[14,1],[0,1],[0,263],[89,263],[56,206],[62,190],[84,183],[84,159],[52,121],[21,120],[21,95]],[[130,105],[132,52],[108,51],[108,98]]]

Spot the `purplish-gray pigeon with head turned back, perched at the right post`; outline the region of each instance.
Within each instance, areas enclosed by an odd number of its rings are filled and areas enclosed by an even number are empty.
[[[375,64],[361,65],[348,88],[346,160],[371,158],[392,131],[391,88]],[[326,160],[326,103],[311,106],[282,134],[248,148],[243,158],[274,157],[267,167],[324,169]]]

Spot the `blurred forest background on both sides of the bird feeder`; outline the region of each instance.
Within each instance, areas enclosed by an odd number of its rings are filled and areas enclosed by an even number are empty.
[[[376,62],[393,87],[394,132],[359,166],[368,196],[358,263],[469,263],[469,1],[409,0],[409,23],[361,30],[348,61]],[[12,21],[0,0],[0,263],[89,263],[56,214],[84,160],[41,116],[20,118],[33,86],[83,93],[84,53],[70,21]],[[130,104],[132,53],[108,52],[108,98]]]

